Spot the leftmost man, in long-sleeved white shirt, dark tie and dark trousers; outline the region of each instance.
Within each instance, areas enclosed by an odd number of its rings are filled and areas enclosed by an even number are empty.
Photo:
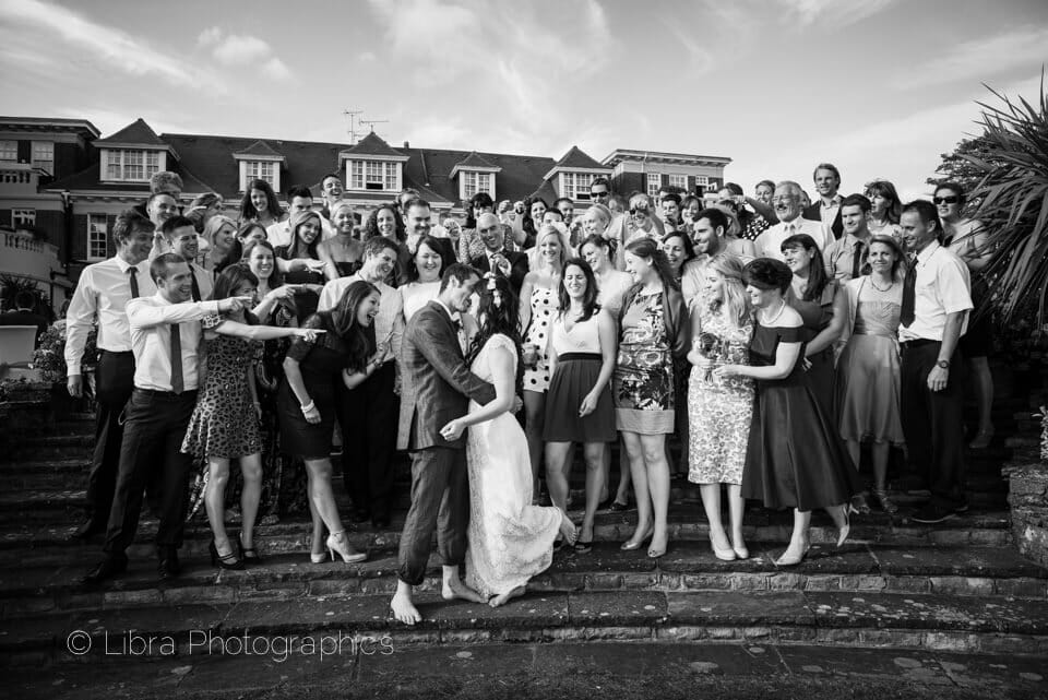
[[[66,311],[67,387],[71,396],[84,392],[82,365],[87,334],[97,322],[98,361],[95,368],[95,451],[87,475],[87,518],[74,537],[86,539],[106,531],[112,491],[117,486],[123,424],[120,414],[134,388],[134,354],[127,304],[156,294],[146,257],[153,246],[154,224],[134,210],[117,216],[112,240],[117,254],[87,265]]]

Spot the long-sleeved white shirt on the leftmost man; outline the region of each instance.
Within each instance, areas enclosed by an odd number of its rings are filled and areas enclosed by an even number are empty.
[[[131,351],[131,329],[128,327],[128,301],[131,300],[131,268],[119,256],[84,268],[76,290],[66,311],[66,366],[70,377],[81,373],[84,346],[95,321],[98,322],[97,346],[110,353]],[[143,260],[138,270],[139,296],[156,294],[150,277],[150,263]],[[93,358],[92,358],[93,359]]]

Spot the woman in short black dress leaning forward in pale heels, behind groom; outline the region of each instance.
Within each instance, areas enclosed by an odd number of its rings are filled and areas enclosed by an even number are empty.
[[[335,422],[335,382],[353,389],[374,371],[377,359],[374,316],[379,290],[367,282],[354,282],[331,311],[313,313],[305,328],[323,331],[315,343],[296,340],[284,359],[284,379],[277,392],[284,451],[301,456],[309,475],[313,517],[310,559],[320,563],[323,547],[346,562],[362,561],[346,538],[331,488],[331,435]],[[324,529],[330,533],[322,539]],[[323,544],[322,544],[323,543]]]

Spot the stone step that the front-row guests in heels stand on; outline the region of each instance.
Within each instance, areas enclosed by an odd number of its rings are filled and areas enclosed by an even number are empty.
[[[896,545],[815,545],[796,567],[774,560],[785,543],[749,543],[751,558],[720,561],[708,544],[675,542],[658,560],[643,550],[621,551],[618,543],[598,543],[590,554],[563,549],[553,563],[528,584],[548,591],[861,591],[974,595],[1044,601],[1048,569],[1029,563],[1011,548]],[[314,565],[305,550],[267,556],[242,571],[222,571],[206,555],[184,557],[183,571],[159,583],[153,557],[136,557],[128,573],[99,589],[79,582],[99,559],[97,551],[78,553],[64,561],[26,562],[0,576],[3,618],[58,609],[131,608],[179,603],[230,603],[294,600],[354,593],[392,593],[396,588],[396,550],[373,549],[370,560]],[[427,586],[439,590],[440,560],[434,555]]]

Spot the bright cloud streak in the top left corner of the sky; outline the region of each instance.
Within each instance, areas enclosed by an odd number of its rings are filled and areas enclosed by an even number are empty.
[[[200,72],[187,67],[182,57],[164,54],[124,32],[92,22],[63,7],[39,0],[0,0],[0,14],[3,15],[0,45],[7,46],[13,39],[19,45],[35,43],[37,51],[41,46],[59,54],[73,49],[76,55],[70,57],[71,64],[83,63],[86,52],[90,59],[109,68],[135,76],[157,75],[179,87],[199,85],[202,79]],[[26,61],[24,52],[19,50],[4,50],[0,55],[20,66],[34,68],[34,61]],[[35,63],[39,68],[40,61]]]

